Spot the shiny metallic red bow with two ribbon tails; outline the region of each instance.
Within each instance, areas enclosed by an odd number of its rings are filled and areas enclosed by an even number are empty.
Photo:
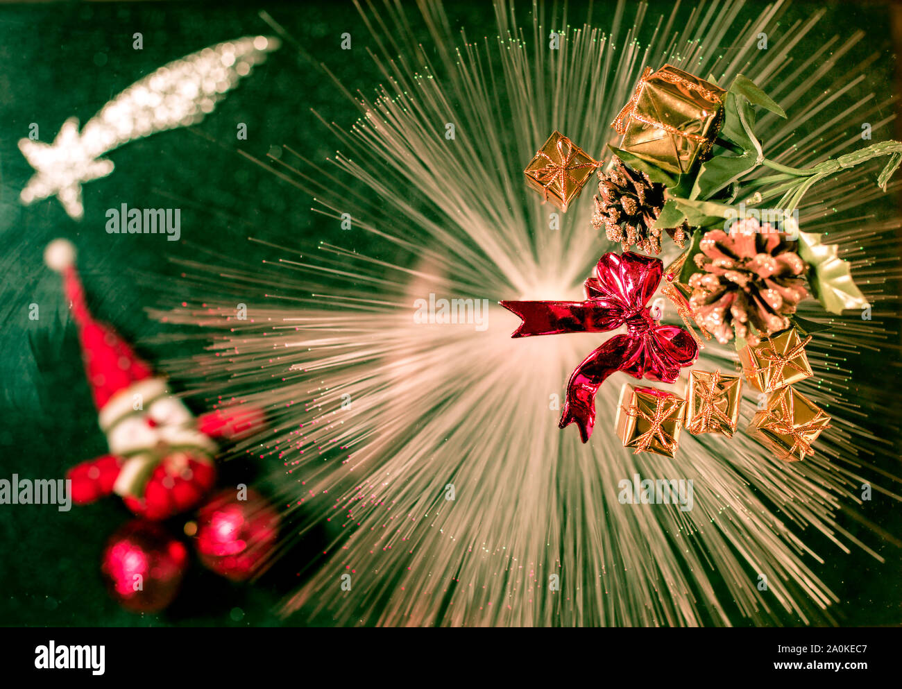
[[[662,326],[646,303],[658,289],[664,264],[638,253],[605,253],[585,280],[585,301],[502,301],[523,319],[511,337],[601,333],[626,326],[580,363],[567,383],[561,428],[579,428],[585,443],[595,424],[595,393],[616,371],[634,378],[673,382],[695,362],[698,344],[686,329]]]

